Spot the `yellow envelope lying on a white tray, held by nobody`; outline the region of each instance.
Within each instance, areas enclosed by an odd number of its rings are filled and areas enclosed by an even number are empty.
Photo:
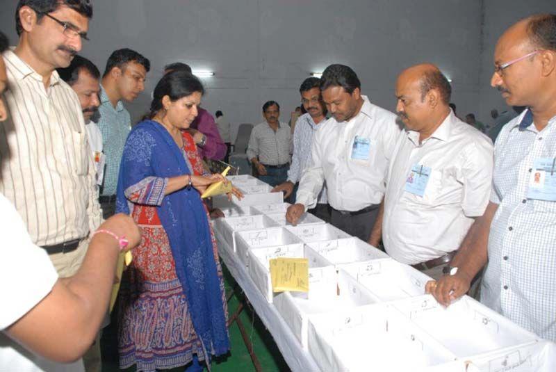
[[[272,291],[309,291],[309,259],[280,257],[269,264]]]

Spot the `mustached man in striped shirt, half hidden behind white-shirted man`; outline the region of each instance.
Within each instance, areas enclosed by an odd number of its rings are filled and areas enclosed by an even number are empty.
[[[307,112],[296,120],[297,124],[293,131],[293,155],[291,167],[288,170],[288,180],[272,189],[272,192],[284,191],[284,199],[291,197],[294,203],[294,191],[309,162],[313,138],[319,128],[319,124],[325,122],[327,113],[325,103],[322,102],[320,95],[320,79],[316,77],[305,79],[301,84],[300,93],[301,102]],[[325,221],[330,219],[326,186],[322,186],[316,207],[309,209],[308,212]]]

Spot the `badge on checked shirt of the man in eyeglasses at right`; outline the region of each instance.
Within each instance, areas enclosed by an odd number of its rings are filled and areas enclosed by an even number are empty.
[[[556,157],[534,161],[527,198],[556,202]]]

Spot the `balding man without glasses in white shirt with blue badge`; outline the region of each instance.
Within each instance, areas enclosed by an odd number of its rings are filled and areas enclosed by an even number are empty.
[[[491,140],[459,120],[448,79],[430,64],[404,70],[395,87],[398,136],[369,243],[439,278],[489,202]]]

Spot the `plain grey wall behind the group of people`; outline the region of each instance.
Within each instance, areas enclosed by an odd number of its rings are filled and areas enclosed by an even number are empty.
[[[0,4],[0,28],[13,43],[16,3]],[[163,65],[175,60],[215,72],[204,79],[203,106],[221,109],[236,124],[261,122],[269,99],[279,102],[287,122],[300,102],[300,83],[330,63],[350,65],[363,94],[390,110],[400,70],[436,63],[453,80],[458,113],[481,108],[482,118],[498,96],[482,89],[481,67],[489,65],[493,40],[514,19],[548,3],[553,0],[95,0],[91,41],[81,54],[101,71],[121,47],[151,60],[145,93],[126,105],[133,118],[147,111]]]

